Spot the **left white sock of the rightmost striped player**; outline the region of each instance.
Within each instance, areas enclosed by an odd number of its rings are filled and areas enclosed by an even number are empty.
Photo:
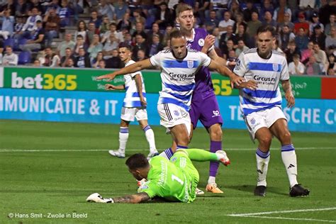
[[[255,157],[257,159],[257,172],[258,172],[258,179],[257,179],[257,186],[267,186],[266,176],[267,170],[269,168],[269,151],[262,152],[257,148],[255,152]]]

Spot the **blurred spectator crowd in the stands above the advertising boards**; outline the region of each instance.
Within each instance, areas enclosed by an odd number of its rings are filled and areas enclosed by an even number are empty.
[[[123,67],[121,42],[133,47],[135,61],[170,47],[180,2],[193,6],[195,28],[215,36],[230,69],[267,24],[290,74],[335,75],[336,1],[327,0],[0,0],[0,63]]]

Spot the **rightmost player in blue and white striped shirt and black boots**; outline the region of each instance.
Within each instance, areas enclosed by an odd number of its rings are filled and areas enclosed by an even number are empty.
[[[307,196],[309,190],[304,189],[296,180],[296,153],[286,116],[281,111],[279,82],[284,89],[287,106],[293,107],[295,99],[289,82],[286,58],[271,50],[275,42],[274,34],[272,26],[260,27],[257,30],[258,47],[242,52],[233,70],[247,81],[237,86],[240,88],[240,108],[252,140],[257,138],[259,142],[256,152],[258,179],[254,195],[266,195],[269,147],[274,135],[281,142],[281,158],[289,177],[290,196]],[[257,83],[257,87],[246,88],[251,83]]]

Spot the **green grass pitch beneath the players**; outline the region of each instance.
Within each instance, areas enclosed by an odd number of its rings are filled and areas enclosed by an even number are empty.
[[[169,147],[164,128],[152,127],[157,148]],[[246,130],[224,130],[223,147],[232,164],[220,167],[217,183],[225,192],[206,193],[194,203],[86,203],[89,194],[134,194],[136,182],[118,148],[118,125],[0,120],[0,223],[324,223],[336,222],[336,135],[292,133],[298,181],[305,198],[289,197],[279,142],[271,146],[267,197],[253,196],[256,145]],[[189,147],[207,149],[198,128]],[[148,153],[145,136],[130,127],[126,154]],[[200,188],[208,162],[194,162]],[[269,212],[269,213],[266,213]]]

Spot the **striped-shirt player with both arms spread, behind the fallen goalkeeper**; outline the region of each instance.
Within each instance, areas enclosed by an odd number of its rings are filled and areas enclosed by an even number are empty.
[[[186,49],[186,38],[180,30],[173,31],[170,36],[172,49],[163,50],[150,59],[136,62],[121,70],[106,74],[97,79],[114,79],[117,75],[138,72],[142,69],[159,67],[161,69],[162,91],[159,92],[157,111],[161,117],[161,125],[172,133],[177,149],[188,147],[191,121],[189,106],[195,87],[195,74],[198,69],[209,67],[230,77],[232,83],[240,84],[242,78],[237,77],[227,67],[220,67],[203,52]],[[175,149],[173,150],[175,151]],[[161,154],[167,157],[165,153]]]

